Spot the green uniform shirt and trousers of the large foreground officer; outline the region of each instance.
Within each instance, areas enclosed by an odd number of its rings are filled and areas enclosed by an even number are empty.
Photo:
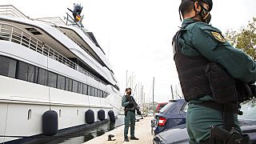
[[[242,82],[255,82],[256,65],[252,58],[226,42],[222,32],[217,28],[206,22],[195,21],[187,18],[182,22],[182,26],[191,23],[178,38],[182,54],[189,57],[202,55],[210,62],[217,62],[223,66],[233,78]],[[199,143],[210,138],[210,126],[224,125],[221,111],[194,104],[206,101],[213,101],[213,98],[206,95],[190,100],[186,115],[190,143]],[[235,130],[241,132],[237,114],[234,114],[234,126]]]

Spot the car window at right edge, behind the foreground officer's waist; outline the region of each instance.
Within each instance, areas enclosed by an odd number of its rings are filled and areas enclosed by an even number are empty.
[[[256,121],[256,98],[250,101],[242,102],[242,115],[238,115],[238,119]]]

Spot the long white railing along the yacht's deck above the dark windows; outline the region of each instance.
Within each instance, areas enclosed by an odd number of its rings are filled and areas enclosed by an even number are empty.
[[[0,22],[0,40],[10,41],[18,43],[22,46],[34,50],[40,54],[52,58],[55,61],[61,62],[62,64],[69,66],[74,70],[78,70],[82,74],[94,78],[98,82],[106,85],[106,82],[103,82],[101,79],[91,74],[89,71],[83,69],[81,66],[78,66],[75,62],[72,62],[69,58],[66,58],[58,51],[54,50],[50,46],[47,46],[44,42],[38,40],[33,35],[27,33],[26,31],[18,28],[17,26],[10,25],[8,23]]]

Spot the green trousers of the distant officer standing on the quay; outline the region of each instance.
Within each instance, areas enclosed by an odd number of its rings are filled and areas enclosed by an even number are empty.
[[[129,124],[130,124],[130,137],[134,137],[134,129],[135,129],[135,112],[134,111],[127,111],[127,115],[125,117],[125,130],[124,130],[125,138],[128,137]]]

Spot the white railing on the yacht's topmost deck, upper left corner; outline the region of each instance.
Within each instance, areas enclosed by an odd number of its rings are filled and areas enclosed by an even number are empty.
[[[21,11],[19,11],[16,7],[12,5],[0,6],[0,14],[28,19],[28,17],[25,14],[23,14]]]

